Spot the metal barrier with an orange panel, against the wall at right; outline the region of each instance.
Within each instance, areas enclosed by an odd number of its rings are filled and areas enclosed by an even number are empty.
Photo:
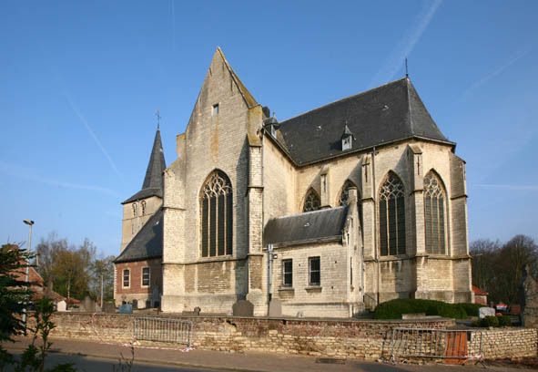
[[[394,328],[391,335],[391,360],[442,358],[447,364],[482,360],[480,330],[432,328]]]

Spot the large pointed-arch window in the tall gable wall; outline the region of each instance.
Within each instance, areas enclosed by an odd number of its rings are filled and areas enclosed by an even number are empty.
[[[228,176],[214,171],[200,194],[202,257],[232,254],[233,193]]]

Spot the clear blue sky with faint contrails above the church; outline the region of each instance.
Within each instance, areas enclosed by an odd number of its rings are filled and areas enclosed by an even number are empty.
[[[196,4],[195,4],[196,3]],[[0,12],[0,239],[116,254],[160,109],[167,163],[220,46],[287,119],[404,75],[467,160],[471,240],[538,240],[538,2],[29,2]]]

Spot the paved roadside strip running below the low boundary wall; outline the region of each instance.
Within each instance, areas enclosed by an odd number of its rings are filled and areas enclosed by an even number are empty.
[[[81,341],[78,339],[53,339],[50,363],[74,360],[79,371],[112,371],[120,355],[130,356],[127,345]],[[15,344],[5,345],[21,353],[29,339],[19,337]],[[249,371],[249,372],[483,372],[482,366],[417,366],[389,365],[363,360],[348,359],[344,363],[324,364],[313,356],[291,356],[266,353],[227,353],[209,350],[180,350],[169,347],[136,346],[136,366],[133,371]],[[343,362],[343,361],[342,361]],[[117,371],[120,369],[116,368]],[[488,371],[522,372],[513,366],[488,366]]]

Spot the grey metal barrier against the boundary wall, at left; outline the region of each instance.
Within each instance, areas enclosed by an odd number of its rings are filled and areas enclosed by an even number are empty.
[[[192,322],[167,317],[137,316],[134,318],[133,331],[137,340],[190,346]]]

